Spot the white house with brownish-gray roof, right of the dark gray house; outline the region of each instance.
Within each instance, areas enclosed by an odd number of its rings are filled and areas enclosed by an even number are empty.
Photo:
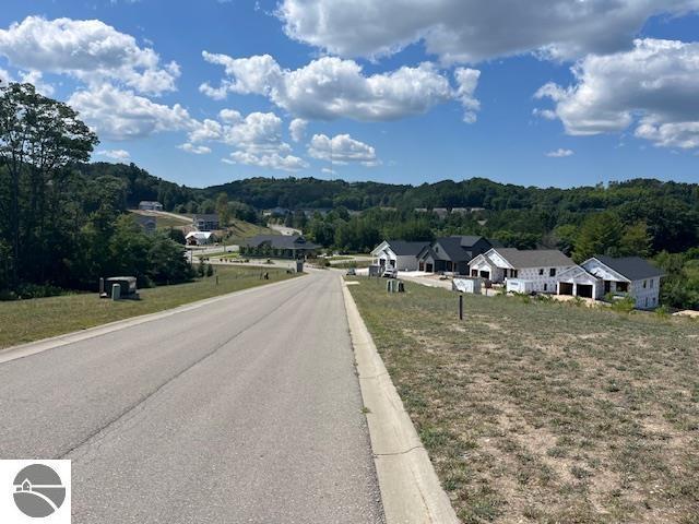
[[[556,293],[558,275],[574,262],[555,249],[493,248],[469,262],[471,276],[507,283],[508,291]]]

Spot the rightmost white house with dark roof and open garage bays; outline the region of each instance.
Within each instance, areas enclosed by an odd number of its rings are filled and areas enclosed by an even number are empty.
[[[639,257],[593,257],[558,276],[556,293],[601,299],[629,295],[637,309],[659,306],[662,272]]]

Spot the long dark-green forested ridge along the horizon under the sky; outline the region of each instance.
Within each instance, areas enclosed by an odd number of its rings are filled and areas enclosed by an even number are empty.
[[[644,214],[667,212],[676,218],[699,213],[699,183],[635,179],[608,186],[571,189],[503,184],[484,178],[443,180],[420,186],[346,182],[317,178],[248,178],[204,189],[179,186],[153,177],[138,166],[94,163],[80,166],[86,175],[110,175],[127,182],[128,204],[158,200],[168,211],[190,202],[201,204],[226,193],[230,201],[258,210],[271,207],[363,211],[370,207],[484,207],[488,211],[542,210],[556,213],[645,207]],[[183,210],[182,210],[183,211]],[[640,211],[640,210],[639,210]],[[682,216],[685,215],[685,216]],[[694,217],[696,218],[696,216]]]

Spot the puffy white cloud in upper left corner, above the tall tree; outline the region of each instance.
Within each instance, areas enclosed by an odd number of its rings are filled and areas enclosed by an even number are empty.
[[[123,83],[141,93],[175,90],[176,62],[161,64],[158,55],[131,35],[99,20],[46,20],[27,16],[0,29],[0,55],[16,68],[69,74],[87,83]]]

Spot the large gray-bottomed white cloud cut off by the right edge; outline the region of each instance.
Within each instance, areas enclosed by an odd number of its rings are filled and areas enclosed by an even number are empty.
[[[638,39],[633,49],[591,55],[572,69],[577,83],[548,83],[536,93],[550,98],[568,134],[621,132],[660,146],[699,146],[699,44]]]

